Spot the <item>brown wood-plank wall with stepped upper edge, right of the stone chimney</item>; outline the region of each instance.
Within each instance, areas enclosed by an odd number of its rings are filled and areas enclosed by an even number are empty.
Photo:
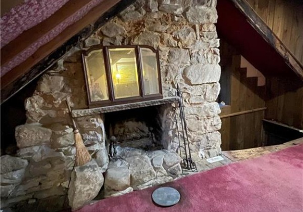
[[[239,68],[240,56],[238,52],[222,39],[220,41],[220,55],[221,89],[223,90],[221,93],[224,93],[225,98],[220,96],[219,102],[225,99],[229,104],[221,109],[222,113],[220,114],[222,150],[261,146],[262,119],[264,119],[265,111],[263,109],[258,112],[247,112],[265,107],[265,86],[258,87],[257,78],[246,78],[246,70]],[[229,96],[229,100],[226,100],[226,96]],[[245,112],[245,114],[224,118],[226,115],[239,112]]]

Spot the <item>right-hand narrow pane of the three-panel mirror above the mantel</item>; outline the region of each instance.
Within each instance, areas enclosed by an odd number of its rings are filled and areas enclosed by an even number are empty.
[[[140,48],[145,95],[159,93],[157,56],[149,48]]]

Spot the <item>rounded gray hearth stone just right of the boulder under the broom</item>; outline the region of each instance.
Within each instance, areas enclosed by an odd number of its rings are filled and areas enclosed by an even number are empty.
[[[130,186],[130,172],[126,168],[112,168],[106,171],[104,188],[123,191]]]

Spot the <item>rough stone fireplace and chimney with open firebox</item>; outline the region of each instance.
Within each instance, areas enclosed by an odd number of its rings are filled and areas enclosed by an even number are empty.
[[[75,161],[66,100],[93,158],[84,169],[87,172],[74,170],[69,188],[73,209],[89,203],[102,185],[109,197],[181,175],[182,146],[173,110],[177,83],[183,91],[192,154],[220,154],[215,6],[213,0],[137,1],[45,72],[25,101],[27,121],[15,131],[17,154],[1,158],[2,206],[66,195]],[[88,109],[81,50],[99,44],[149,45],[159,50],[163,98]],[[111,140],[116,143],[113,160],[108,156]],[[96,185],[89,191],[87,173]],[[83,192],[77,190],[81,186]]]

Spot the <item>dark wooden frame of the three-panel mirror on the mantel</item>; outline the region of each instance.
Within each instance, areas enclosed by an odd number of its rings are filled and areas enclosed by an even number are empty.
[[[115,98],[114,84],[113,84],[113,80],[112,80],[113,78],[112,78],[112,72],[111,72],[111,64],[110,64],[110,60],[109,60],[109,49],[111,49],[111,48],[134,48],[135,49],[136,66],[137,66],[137,74],[138,74],[138,85],[139,85],[139,96],[125,97],[125,98],[118,98],[118,99]],[[156,54],[159,93],[145,95],[143,72],[142,72],[143,69],[142,69],[142,61],[141,61],[142,58],[141,58],[140,48],[148,48]],[[107,79],[107,89],[108,89],[109,99],[101,100],[101,101],[91,101],[90,88],[89,88],[87,69],[86,69],[87,64],[86,64],[85,57],[87,57],[91,51],[98,50],[98,49],[102,49],[102,52],[103,52],[105,72],[107,75],[106,79]],[[151,46],[148,46],[148,45],[111,45],[111,46],[96,45],[94,47],[89,48],[86,51],[82,51],[82,65],[83,65],[83,71],[84,71],[84,76],[85,76],[85,85],[86,85],[86,92],[87,92],[89,108],[107,107],[107,106],[118,105],[118,104],[126,104],[126,103],[133,103],[133,102],[155,100],[155,99],[163,98],[161,71],[160,71],[160,62],[159,62],[159,51]]]

